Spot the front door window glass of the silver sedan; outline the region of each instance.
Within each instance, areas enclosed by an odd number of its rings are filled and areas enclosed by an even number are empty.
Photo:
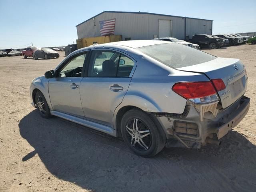
[[[86,53],[72,58],[58,74],[58,77],[81,77]]]

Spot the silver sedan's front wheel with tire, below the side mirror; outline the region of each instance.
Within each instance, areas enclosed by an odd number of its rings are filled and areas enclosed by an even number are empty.
[[[36,108],[38,109],[41,117],[48,119],[52,116],[50,113],[50,108],[42,92],[40,91],[36,92],[35,102],[36,102]]]

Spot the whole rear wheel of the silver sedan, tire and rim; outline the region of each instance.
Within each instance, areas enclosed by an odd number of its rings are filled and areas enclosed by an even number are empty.
[[[152,157],[163,148],[163,140],[156,124],[145,112],[129,110],[121,121],[121,133],[124,142],[137,155]]]

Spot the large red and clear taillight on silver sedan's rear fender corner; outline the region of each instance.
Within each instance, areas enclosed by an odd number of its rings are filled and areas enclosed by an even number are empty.
[[[210,81],[176,83],[172,90],[185,99],[198,104],[219,100],[216,90]]]

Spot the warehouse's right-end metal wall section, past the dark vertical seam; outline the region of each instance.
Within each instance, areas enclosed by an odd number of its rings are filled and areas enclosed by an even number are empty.
[[[186,36],[191,39],[196,34],[212,35],[212,21],[186,18]]]

